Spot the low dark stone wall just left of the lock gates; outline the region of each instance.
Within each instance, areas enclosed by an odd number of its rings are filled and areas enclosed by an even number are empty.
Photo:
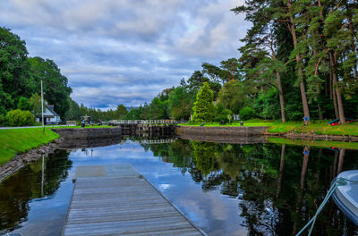
[[[118,126],[113,128],[52,129],[52,131],[58,133],[63,139],[101,139],[122,136],[122,128]]]

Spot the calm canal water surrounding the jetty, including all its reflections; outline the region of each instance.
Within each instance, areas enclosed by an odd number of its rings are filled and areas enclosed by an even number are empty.
[[[358,169],[357,150],[335,147],[155,142],[57,150],[25,166],[0,184],[0,235],[61,235],[79,165],[132,164],[208,235],[294,235],[337,173]],[[312,235],[358,228],[330,201]]]

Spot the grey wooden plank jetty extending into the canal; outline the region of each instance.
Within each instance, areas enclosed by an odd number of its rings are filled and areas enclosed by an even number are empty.
[[[79,166],[63,235],[206,235],[130,164]]]

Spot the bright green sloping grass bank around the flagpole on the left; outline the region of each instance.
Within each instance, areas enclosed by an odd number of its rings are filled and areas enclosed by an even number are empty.
[[[60,136],[46,128],[0,130],[0,165],[4,164],[16,154],[29,151],[32,148],[47,144]]]

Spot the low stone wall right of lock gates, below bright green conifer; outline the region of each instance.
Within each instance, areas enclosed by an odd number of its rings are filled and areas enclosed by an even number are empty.
[[[260,136],[268,131],[267,126],[178,126],[175,132],[181,134],[212,135],[212,136]]]

